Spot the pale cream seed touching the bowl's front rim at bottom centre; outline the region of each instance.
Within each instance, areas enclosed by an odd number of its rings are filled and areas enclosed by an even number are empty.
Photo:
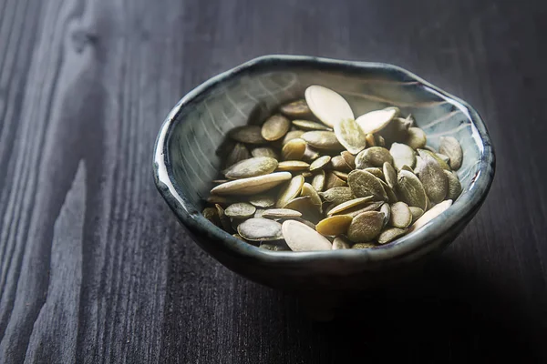
[[[295,220],[286,220],[283,237],[293,251],[330,250],[332,244],[313,228]]]

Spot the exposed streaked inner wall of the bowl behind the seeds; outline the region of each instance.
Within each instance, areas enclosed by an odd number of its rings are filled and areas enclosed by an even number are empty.
[[[458,171],[461,196],[472,187],[480,171],[483,141],[469,109],[459,101],[398,68],[263,62],[215,77],[176,108],[167,151],[177,191],[201,211],[220,169],[228,131],[263,122],[281,104],[302,98],[310,85],[326,86],[344,96],[356,116],[398,106],[404,116],[415,116],[431,147],[439,147],[440,136],[456,137],[464,149]]]

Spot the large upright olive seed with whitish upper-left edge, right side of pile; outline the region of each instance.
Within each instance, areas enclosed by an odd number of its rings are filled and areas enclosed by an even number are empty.
[[[444,200],[449,190],[449,181],[444,169],[439,166],[437,160],[426,153],[422,153],[418,158],[415,171],[416,176],[418,176],[426,190],[429,200],[435,204]]]

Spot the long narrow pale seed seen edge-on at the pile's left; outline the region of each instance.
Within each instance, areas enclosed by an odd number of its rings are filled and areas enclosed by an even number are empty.
[[[289,172],[276,172],[265,176],[236,179],[212,188],[211,193],[218,195],[254,195],[267,191],[291,177]]]

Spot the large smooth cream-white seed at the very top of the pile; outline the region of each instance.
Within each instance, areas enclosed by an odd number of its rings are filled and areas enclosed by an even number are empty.
[[[334,127],[340,120],[355,118],[346,99],[331,89],[309,86],[305,89],[304,96],[312,113],[325,126]]]

